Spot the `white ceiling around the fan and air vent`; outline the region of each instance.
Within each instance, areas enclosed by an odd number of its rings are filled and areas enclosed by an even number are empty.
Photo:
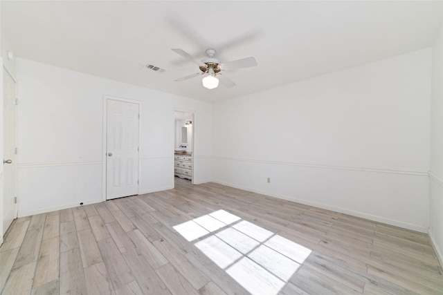
[[[1,33],[17,57],[215,102],[432,46],[442,16],[443,1],[1,1]],[[199,69],[171,48],[258,66],[208,90],[173,81]]]

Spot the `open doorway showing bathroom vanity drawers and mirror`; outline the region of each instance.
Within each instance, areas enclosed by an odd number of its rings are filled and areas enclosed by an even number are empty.
[[[194,113],[174,111],[174,180],[194,183]]]

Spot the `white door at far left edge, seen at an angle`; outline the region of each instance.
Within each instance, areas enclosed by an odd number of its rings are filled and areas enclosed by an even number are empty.
[[[15,154],[15,81],[3,69],[3,234],[17,218],[15,184],[17,155]]]

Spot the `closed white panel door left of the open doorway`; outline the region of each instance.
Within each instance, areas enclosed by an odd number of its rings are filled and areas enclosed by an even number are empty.
[[[138,104],[107,100],[106,198],[138,194]]]

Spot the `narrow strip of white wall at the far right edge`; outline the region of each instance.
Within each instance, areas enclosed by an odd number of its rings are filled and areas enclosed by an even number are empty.
[[[433,46],[429,236],[443,263],[443,26]]]

